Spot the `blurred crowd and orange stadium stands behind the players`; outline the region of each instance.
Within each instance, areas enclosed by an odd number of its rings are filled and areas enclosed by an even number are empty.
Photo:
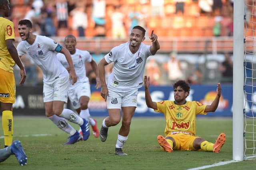
[[[150,76],[153,85],[172,85],[177,79],[185,79],[190,84],[232,83],[232,44],[229,42],[233,36],[233,0],[9,1],[9,19],[14,22],[16,43],[20,42],[18,21],[28,19],[33,23],[34,34],[51,37],[62,45],[68,34],[76,36],[77,47],[88,50],[98,63],[115,46],[114,42],[127,42],[131,28],[140,25],[147,31],[146,39],[154,30],[161,49],[165,47],[146,63],[144,74]],[[104,40],[109,43],[97,43]],[[190,50],[186,42],[191,40],[204,48],[197,51],[194,46]],[[222,40],[221,46],[230,47],[208,50],[209,40]],[[25,85],[42,84],[40,69],[27,56],[23,56],[22,61],[27,71]],[[87,66],[86,70],[90,82],[95,83],[92,68]],[[111,71],[112,65],[106,67],[106,78]],[[18,82],[17,67],[14,73]]]

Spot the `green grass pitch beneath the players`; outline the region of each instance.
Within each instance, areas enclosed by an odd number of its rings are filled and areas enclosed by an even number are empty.
[[[2,119],[1,119],[2,120]],[[98,128],[102,117],[96,117]],[[74,128],[79,126],[70,123]],[[106,142],[91,134],[86,141],[64,145],[68,134],[46,117],[15,117],[13,140],[20,140],[28,156],[26,166],[20,166],[15,156],[0,163],[0,170],[186,170],[232,160],[232,118],[205,117],[197,119],[196,135],[209,142],[226,133],[226,144],[220,153],[204,151],[163,152],[156,137],[164,135],[163,117],[134,117],[124,152],[128,156],[114,155],[120,123],[108,130]],[[3,136],[2,128],[0,136]],[[4,147],[4,139],[0,139]],[[246,160],[210,170],[241,170],[256,167],[256,161]]]

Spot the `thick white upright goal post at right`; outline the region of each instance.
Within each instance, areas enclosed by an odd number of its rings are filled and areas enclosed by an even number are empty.
[[[234,0],[233,160],[244,159],[244,14],[245,0]]]

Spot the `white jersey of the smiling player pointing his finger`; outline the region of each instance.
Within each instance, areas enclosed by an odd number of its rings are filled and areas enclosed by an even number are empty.
[[[138,89],[143,85],[146,59],[152,55],[150,45],[140,44],[136,53],[129,49],[130,42],[114,47],[105,55],[108,63],[114,62],[114,70],[108,77],[108,87],[114,90]]]

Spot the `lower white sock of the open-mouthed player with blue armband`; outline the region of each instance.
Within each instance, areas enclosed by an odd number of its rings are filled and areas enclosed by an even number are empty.
[[[55,125],[57,125],[58,128],[63,130],[64,132],[69,133],[70,135],[73,135],[76,133],[76,130],[68,124],[67,120],[63,117],[58,117],[57,115],[53,115],[48,117]]]

